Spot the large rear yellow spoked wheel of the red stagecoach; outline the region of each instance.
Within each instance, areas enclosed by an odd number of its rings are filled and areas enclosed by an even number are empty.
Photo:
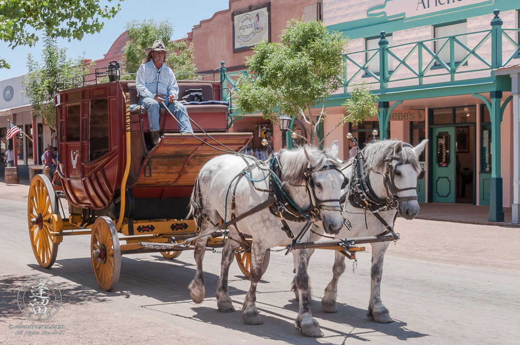
[[[58,243],[53,242],[51,216],[57,211],[56,194],[45,175],[36,175],[29,187],[27,219],[34,257],[43,268],[50,268],[58,255]]]

